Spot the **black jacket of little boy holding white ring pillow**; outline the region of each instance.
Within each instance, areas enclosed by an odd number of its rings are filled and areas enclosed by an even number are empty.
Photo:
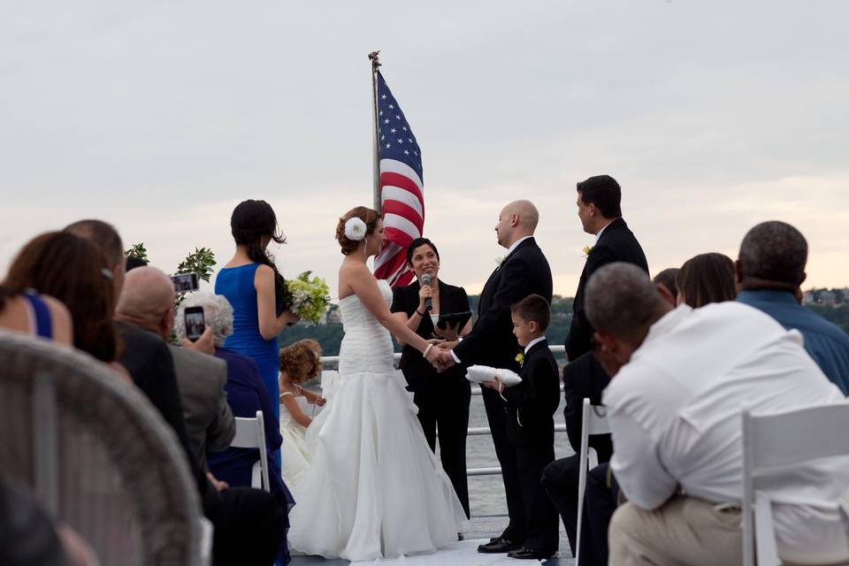
[[[501,392],[507,401],[507,438],[514,444],[554,446],[559,373],[547,340],[537,342],[524,355],[522,383]]]

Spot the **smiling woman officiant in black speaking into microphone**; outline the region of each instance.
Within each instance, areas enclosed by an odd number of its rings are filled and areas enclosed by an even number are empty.
[[[416,279],[407,287],[396,287],[392,312],[411,330],[424,339],[458,339],[471,330],[471,320],[463,328],[437,326],[440,313],[451,314],[469,310],[469,298],[463,287],[442,282],[440,252],[432,241],[417,238],[407,248],[407,264]],[[424,285],[423,278],[430,280]],[[428,302],[430,299],[430,302]],[[431,310],[427,305],[431,304]],[[459,331],[459,332],[458,332]],[[400,342],[401,340],[399,340]],[[466,481],[466,432],[469,428],[471,388],[465,370],[453,367],[437,372],[415,348],[403,344],[401,370],[407,379],[407,389],[413,392],[418,407],[418,420],[424,437],[436,451],[437,431],[440,439],[440,458],[457,497],[469,516],[469,487]]]

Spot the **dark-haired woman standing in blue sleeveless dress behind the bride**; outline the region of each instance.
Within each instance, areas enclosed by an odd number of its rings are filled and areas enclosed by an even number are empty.
[[[279,421],[277,335],[299,317],[283,310],[283,277],[265,249],[272,240],[281,244],[286,239],[279,233],[274,210],[265,201],[239,203],[230,228],[236,253],[215,280],[215,294],[223,294],[233,305],[233,334],[225,348],[254,360]]]

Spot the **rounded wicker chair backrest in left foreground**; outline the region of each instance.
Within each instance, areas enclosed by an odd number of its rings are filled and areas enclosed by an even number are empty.
[[[201,506],[148,399],[73,348],[0,332],[0,471],[103,564],[197,564]]]

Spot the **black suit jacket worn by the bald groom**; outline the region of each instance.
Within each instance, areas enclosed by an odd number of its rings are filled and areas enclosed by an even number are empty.
[[[478,303],[478,322],[454,348],[465,365],[488,365],[518,371],[522,351],[513,336],[510,306],[529,294],[551,304],[551,268],[533,237],[522,241],[486,281]]]

